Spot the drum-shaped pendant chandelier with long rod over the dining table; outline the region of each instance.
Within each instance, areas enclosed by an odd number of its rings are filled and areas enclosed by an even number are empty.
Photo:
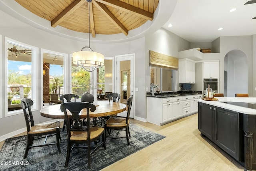
[[[74,52],[72,54],[73,64],[77,67],[82,67],[84,70],[88,72],[92,72],[95,68],[100,68],[104,66],[104,55],[94,52],[92,48],[90,48],[90,2],[92,0],[86,0],[88,2],[88,11],[89,11],[89,24],[88,24],[88,38],[89,38],[89,46],[85,46],[81,51]],[[90,51],[85,51],[84,49],[89,49]]]

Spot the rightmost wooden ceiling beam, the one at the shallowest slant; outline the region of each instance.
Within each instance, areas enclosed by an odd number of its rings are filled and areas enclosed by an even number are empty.
[[[121,2],[119,0],[95,0],[95,1],[98,1],[102,4],[106,4],[108,6],[112,6],[116,9],[119,9],[119,10],[122,10],[125,12],[131,12],[131,13],[135,14],[136,16],[145,18],[146,20],[150,20],[150,21],[153,20],[153,13],[144,11],[140,8],[136,8],[134,6],[131,6],[129,4]]]

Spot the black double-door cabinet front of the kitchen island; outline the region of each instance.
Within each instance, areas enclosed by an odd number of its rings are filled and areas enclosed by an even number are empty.
[[[242,156],[239,113],[205,103],[198,104],[198,129],[235,159]]]

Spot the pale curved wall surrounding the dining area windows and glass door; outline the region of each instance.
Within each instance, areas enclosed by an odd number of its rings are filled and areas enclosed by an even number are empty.
[[[72,54],[74,51],[81,50],[82,47],[88,46],[88,41],[79,42],[68,38],[63,38],[44,32],[28,24],[24,24],[16,18],[13,18],[6,13],[0,11],[0,35],[2,35],[1,42],[4,42],[4,37],[11,38],[13,40],[23,42],[28,45],[36,46],[41,49],[52,50],[55,52],[62,52],[64,54]],[[97,35],[96,35],[97,36]],[[90,42],[91,48],[96,51],[104,54],[105,57],[114,57],[116,55],[122,54],[135,54],[135,86],[138,87],[138,91],[135,92],[135,105],[136,108],[136,117],[146,118],[146,90],[145,90],[145,38],[140,38],[130,42],[123,43],[93,43]],[[4,57],[5,51],[4,44],[2,46],[2,54]],[[39,52],[39,54],[41,54]],[[38,56],[39,61],[41,61],[41,56]],[[2,62],[2,63],[1,63]],[[4,58],[2,58],[0,64],[2,68],[4,66]],[[38,70],[42,70],[41,65]],[[71,71],[70,71],[71,72]],[[6,73],[2,72],[2,78],[4,78]],[[38,82],[41,80],[41,75],[38,74]],[[7,84],[2,79],[2,92],[4,91],[4,85]],[[40,87],[37,89],[41,90]],[[41,92],[38,92],[37,97],[41,99]],[[4,101],[4,96],[1,96],[2,101]],[[137,104],[138,103],[138,104]],[[138,107],[136,107],[138,106]],[[17,129],[24,128],[24,116],[23,113],[18,115],[4,117],[4,108],[0,109],[0,113],[3,115],[3,118],[0,119],[0,137]],[[42,123],[50,119],[42,117],[40,115],[40,108],[38,111],[34,111],[34,119],[36,123]]]

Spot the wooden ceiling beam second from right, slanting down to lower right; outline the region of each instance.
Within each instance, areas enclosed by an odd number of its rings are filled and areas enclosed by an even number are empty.
[[[92,2],[113,24],[120,29],[126,36],[128,35],[128,30],[124,25],[100,2]]]

